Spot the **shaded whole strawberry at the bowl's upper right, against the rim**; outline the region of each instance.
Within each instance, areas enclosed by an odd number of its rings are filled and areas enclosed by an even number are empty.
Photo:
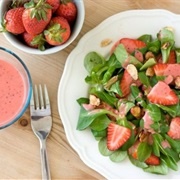
[[[61,4],[56,10],[56,14],[64,17],[68,20],[70,25],[73,25],[77,16],[76,4],[72,0],[61,0]]]

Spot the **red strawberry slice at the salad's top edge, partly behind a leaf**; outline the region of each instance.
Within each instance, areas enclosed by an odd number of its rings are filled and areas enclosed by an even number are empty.
[[[136,49],[146,47],[146,43],[144,43],[143,41],[131,38],[122,38],[114,44],[114,46],[111,49],[111,52],[114,52],[114,50],[119,44],[123,44],[126,51],[130,54],[133,53]]]

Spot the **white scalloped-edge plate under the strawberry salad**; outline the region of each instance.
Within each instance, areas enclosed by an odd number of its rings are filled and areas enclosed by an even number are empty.
[[[66,136],[82,161],[107,179],[179,179],[180,172],[154,175],[144,172],[131,164],[129,159],[114,163],[99,153],[98,143],[89,130],[76,130],[80,107],[76,100],[87,96],[88,86],[84,81],[87,72],[83,66],[85,55],[97,51],[108,55],[112,44],[101,47],[104,39],[115,43],[122,37],[137,38],[143,34],[156,37],[165,26],[175,29],[176,45],[180,46],[180,15],[166,10],[132,10],[115,14],[82,37],[76,48],[68,56],[58,89],[58,109]]]

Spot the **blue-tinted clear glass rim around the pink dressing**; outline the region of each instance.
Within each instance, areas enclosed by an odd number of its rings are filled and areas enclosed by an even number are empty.
[[[13,118],[11,121],[9,121],[7,124],[0,126],[0,129],[4,129],[4,128],[12,125],[13,123],[15,123],[18,119],[20,119],[20,117],[27,110],[29,103],[30,103],[31,95],[32,95],[32,79],[31,79],[31,75],[30,75],[30,72],[29,72],[27,66],[25,65],[25,63],[21,60],[21,58],[17,54],[15,54],[11,50],[1,47],[1,46],[0,46],[0,50],[5,51],[5,52],[9,53],[10,55],[14,56],[16,58],[16,60],[22,65],[22,67],[24,68],[24,70],[27,74],[27,80],[28,80],[28,86],[29,86],[29,88],[27,90],[27,98],[25,100],[24,106],[21,108],[21,112],[18,113],[17,116],[15,118]]]

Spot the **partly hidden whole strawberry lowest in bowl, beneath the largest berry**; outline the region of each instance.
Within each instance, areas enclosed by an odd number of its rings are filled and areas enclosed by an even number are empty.
[[[24,42],[30,46],[30,47],[33,47],[33,48],[37,48],[41,51],[44,51],[45,50],[45,38],[44,38],[44,35],[43,33],[41,34],[38,34],[38,35],[32,35],[32,34],[29,34],[27,32],[24,32],[22,34],[22,37],[23,37],[23,40]]]

